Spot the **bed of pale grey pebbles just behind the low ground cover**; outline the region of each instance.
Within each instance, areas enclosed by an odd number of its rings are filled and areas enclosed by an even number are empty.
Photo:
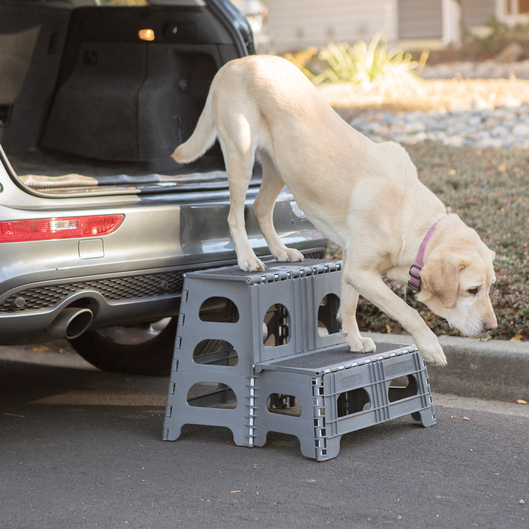
[[[529,149],[529,104],[513,108],[448,112],[375,112],[354,117],[351,126],[376,142],[414,144],[424,140],[451,147]]]

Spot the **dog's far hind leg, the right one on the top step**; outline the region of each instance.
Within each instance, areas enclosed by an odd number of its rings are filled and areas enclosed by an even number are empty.
[[[263,167],[263,180],[252,210],[259,229],[266,239],[272,256],[278,261],[303,261],[303,254],[295,248],[287,248],[273,227],[273,206],[276,204],[279,193],[285,187],[285,182],[269,154],[264,151],[259,151],[258,154]]]

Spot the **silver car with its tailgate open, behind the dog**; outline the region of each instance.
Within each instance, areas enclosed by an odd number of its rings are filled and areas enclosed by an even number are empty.
[[[236,263],[218,143],[189,166],[170,154],[249,53],[227,0],[0,0],[0,345],[66,338],[104,370],[169,370],[184,273]],[[246,222],[266,259],[260,181],[256,163]],[[324,256],[287,188],[274,223]]]

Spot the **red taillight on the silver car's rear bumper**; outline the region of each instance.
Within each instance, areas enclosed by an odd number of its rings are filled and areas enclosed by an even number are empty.
[[[124,215],[89,217],[35,218],[31,221],[0,222],[0,242],[43,241],[94,237],[112,233]]]

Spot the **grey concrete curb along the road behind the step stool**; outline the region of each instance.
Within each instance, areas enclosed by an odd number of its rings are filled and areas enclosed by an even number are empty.
[[[375,342],[413,343],[408,334],[362,333]],[[440,336],[448,366],[428,365],[432,391],[462,397],[529,401],[529,342]]]

